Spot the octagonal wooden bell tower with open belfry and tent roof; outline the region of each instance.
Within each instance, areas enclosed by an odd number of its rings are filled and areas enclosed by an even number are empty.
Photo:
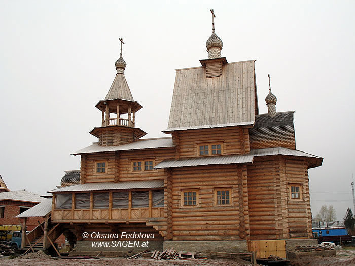
[[[100,146],[117,146],[132,142],[147,133],[135,127],[135,113],[142,106],[133,100],[128,87],[124,70],[126,62],[122,57],[122,45],[120,58],[116,61],[116,77],[104,100],[96,104],[102,112],[101,127],[96,127],[90,134],[98,138]]]

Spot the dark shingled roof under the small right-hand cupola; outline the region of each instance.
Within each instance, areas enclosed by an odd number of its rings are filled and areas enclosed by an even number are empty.
[[[286,147],[296,149],[294,111],[255,115],[255,125],[249,129],[250,148]]]

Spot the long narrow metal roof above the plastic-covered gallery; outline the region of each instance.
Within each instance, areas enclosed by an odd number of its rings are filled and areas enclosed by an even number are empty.
[[[161,188],[164,187],[164,180],[146,180],[146,181],[123,181],[123,182],[100,182],[85,183],[53,189],[51,193],[69,192],[69,191],[106,191],[120,189],[142,189],[142,188]]]

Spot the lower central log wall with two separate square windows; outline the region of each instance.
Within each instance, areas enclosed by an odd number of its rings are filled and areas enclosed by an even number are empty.
[[[217,205],[216,191],[230,189],[230,204]],[[184,206],[183,192],[196,191],[197,205]],[[244,240],[249,235],[246,167],[209,165],[172,171],[172,240]]]

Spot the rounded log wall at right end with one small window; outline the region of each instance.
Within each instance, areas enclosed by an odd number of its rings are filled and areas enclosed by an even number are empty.
[[[247,167],[250,238],[311,237],[307,162],[285,156],[255,158]],[[291,198],[291,186],[300,198]]]

